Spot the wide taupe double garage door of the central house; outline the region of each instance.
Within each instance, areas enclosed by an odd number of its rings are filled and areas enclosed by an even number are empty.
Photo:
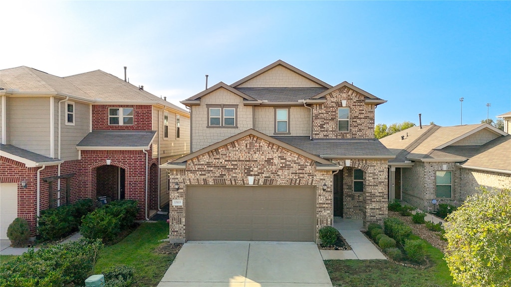
[[[187,240],[315,241],[313,186],[187,185]]]

